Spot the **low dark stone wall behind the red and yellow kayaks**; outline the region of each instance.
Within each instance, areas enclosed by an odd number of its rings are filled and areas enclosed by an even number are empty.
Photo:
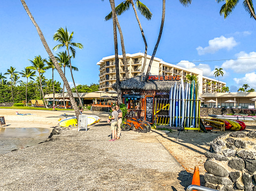
[[[255,109],[237,109],[237,108],[210,108],[210,107],[200,107],[200,115],[227,115],[234,113],[244,113],[248,115],[255,115]]]

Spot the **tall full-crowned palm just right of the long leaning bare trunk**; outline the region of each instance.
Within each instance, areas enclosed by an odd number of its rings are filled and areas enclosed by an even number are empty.
[[[73,34],[74,34],[74,31],[72,31],[71,34],[70,34],[67,31],[67,27],[66,27],[66,29],[59,28],[57,30],[57,32],[53,35],[53,39],[55,41],[59,41],[60,44],[56,45],[53,48],[53,51],[56,51],[57,49],[66,46],[66,50],[67,50],[67,54],[68,54],[68,59],[69,59],[69,64],[70,64],[69,68],[70,68],[70,72],[71,72],[71,77],[72,77],[72,80],[73,80],[73,84],[74,84],[74,87],[75,87],[75,91],[76,91],[77,97],[79,98],[80,106],[82,107],[83,104],[82,104],[81,98],[80,98],[80,96],[79,96],[79,94],[77,92],[76,85],[75,85],[75,80],[74,80],[73,73],[72,73],[71,56],[69,55],[69,50],[72,53],[72,57],[75,58],[75,49],[74,49],[74,47],[82,49],[83,45],[81,43],[73,43],[72,42]]]

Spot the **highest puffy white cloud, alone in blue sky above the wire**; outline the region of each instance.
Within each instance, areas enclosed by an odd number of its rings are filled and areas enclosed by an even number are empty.
[[[198,46],[196,48],[199,55],[204,55],[207,53],[213,54],[219,51],[220,49],[228,49],[229,51],[230,49],[232,49],[237,45],[237,42],[234,39],[234,37],[226,38],[224,36],[209,40],[208,43],[209,43],[209,46],[206,46],[204,48],[201,46]]]

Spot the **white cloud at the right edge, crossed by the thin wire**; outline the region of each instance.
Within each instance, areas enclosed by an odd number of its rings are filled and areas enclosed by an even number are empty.
[[[221,68],[232,69],[236,73],[252,72],[256,69],[256,52],[249,54],[239,52],[236,57],[238,60],[228,60],[221,65]]]

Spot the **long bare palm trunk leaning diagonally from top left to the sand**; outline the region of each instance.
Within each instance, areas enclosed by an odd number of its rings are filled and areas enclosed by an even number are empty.
[[[74,109],[74,111],[75,111],[76,118],[77,118],[77,120],[78,120],[78,119],[79,119],[79,115],[80,115],[79,108],[77,107],[77,105],[76,105],[76,103],[75,103],[75,99],[74,99],[74,97],[73,97],[72,90],[71,90],[71,88],[70,88],[70,86],[69,86],[69,84],[68,84],[68,81],[67,81],[66,77],[64,76],[64,73],[63,73],[63,71],[61,70],[60,65],[59,65],[59,63],[57,62],[55,56],[52,54],[51,49],[49,48],[48,44],[46,43],[46,40],[45,40],[45,38],[44,38],[44,36],[43,36],[43,33],[42,33],[41,29],[38,27],[36,21],[34,20],[32,14],[30,13],[30,11],[29,11],[29,9],[28,9],[28,7],[27,7],[27,4],[25,3],[24,0],[20,0],[20,1],[21,1],[22,5],[24,6],[24,9],[26,10],[26,12],[27,12],[29,18],[30,18],[31,21],[33,22],[34,26],[36,27],[36,30],[37,30],[37,32],[38,32],[38,35],[39,35],[41,41],[42,41],[42,44],[44,45],[44,48],[45,48],[46,52],[47,52],[48,55],[50,56],[52,62],[54,63],[54,65],[55,65],[55,67],[56,67],[56,69],[57,69],[57,71],[59,72],[59,75],[60,75],[61,79],[63,80],[63,82],[64,82],[64,84],[65,84],[65,86],[66,86],[66,88],[67,88],[67,93],[68,93],[69,99],[70,99],[70,101],[71,101],[71,104],[72,104],[73,109]]]

